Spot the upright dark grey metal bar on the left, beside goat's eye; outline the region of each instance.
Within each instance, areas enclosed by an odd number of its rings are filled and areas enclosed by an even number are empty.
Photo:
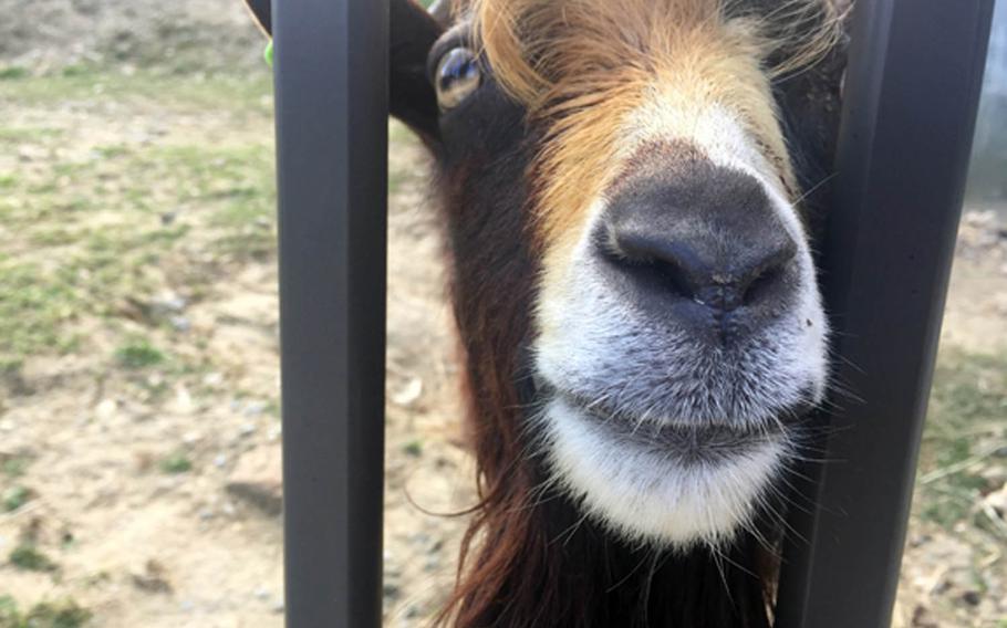
[[[387,0],[274,0],[289,628],[381,622]]]

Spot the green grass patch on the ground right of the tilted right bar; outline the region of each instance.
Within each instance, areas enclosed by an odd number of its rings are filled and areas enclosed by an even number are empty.
[[[968,520],[984,491],[986,458],[1007,447],[1007,357],[942,353],[923,435],[916,506],[951,528]]]

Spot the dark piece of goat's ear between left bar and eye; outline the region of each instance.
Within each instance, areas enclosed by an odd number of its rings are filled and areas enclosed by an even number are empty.
[[[392,0],[388,33],[388,109],[426,142],[439,136],[437,94],[426,60],[444,27],[413,0]]]

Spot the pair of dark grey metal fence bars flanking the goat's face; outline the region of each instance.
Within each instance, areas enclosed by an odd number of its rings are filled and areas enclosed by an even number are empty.
[[[993,0],[860,0],[823,247],[835,377],[780,628],[891,621]],[[287,625],[381,622],[387,0],[273,1]]]

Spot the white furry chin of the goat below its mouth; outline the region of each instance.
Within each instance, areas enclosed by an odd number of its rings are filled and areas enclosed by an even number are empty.
[[[626,541],[673,551],[723,546],[745,530],[790,448],[778,433],[735,454],[685,459],[613,438],[561,399],[537,420],[552,480],[589,516]]]

